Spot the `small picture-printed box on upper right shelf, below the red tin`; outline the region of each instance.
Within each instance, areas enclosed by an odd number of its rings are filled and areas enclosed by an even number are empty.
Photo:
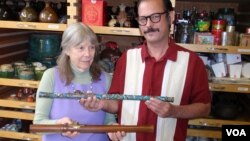
[[[195,32],[194,34],[194,44],[214,44],[214,36],[209,32]]]

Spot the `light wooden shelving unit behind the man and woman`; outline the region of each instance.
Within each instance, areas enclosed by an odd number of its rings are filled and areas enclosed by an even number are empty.
[[[111,1],[107,0],[111,5],[114,3],[117,4],[119,1]],[[120,0],[124,3],[131,3],[132,0]],[[175,0],[173,1],[173,5],[175,5]],[[178,1],[178,0],[177,0]],[[67,13],[69,15],[69,19],[67,20],[67,24],[58,24],[58,23],[38,23],[38,22],[19,22],[19,21],[0,21],[0,29],[1,30],[22,30],[28,31],[55,31],[62,32],[66,29],[66,27],[74,22],[79,21],[76,16],[79,17],[79,3],[78,0],[68,0],[69,6],[67,7]],[[104,26],[90,26],[95,33],[99,35],[122,35],[122,36],[141,36],[138,28],[120,28],[120,27],[104,27]],[[18,31],[19,32],[19,31]],[[0,37],[6,36],[4,34],[0,34]],[[121,37],[122,38],[122,37]],[[13,45],[7,45],[5,42],[0,41],[1,46],[27,46],[27,38],[22,39],[16,38],[16,40],[21,39],[20,41],[15,41]],[[10,40],[8,40],[10,41]],[[4,44],[4,45],[1,45]],[[195,52],[203,52],[203,53],[238,53],[250,55],[250,49],[246,47],[235,47],[235,46],[213,46],[213,45],[194,45],[194,44],[180,44],[181,46],[195,51]],[[20,50],[9,50],[6,51],[6,54],[1,54],[0,63],[5,63],[6,61],[11,61],[8,56],[25,56],[27,53],[27,47],[23,47]],[[20,55],[19,55],[20,54]],[[7,56],[7,57],[5,57]],[[19,57],[19,58],[22,58]],[[5,59],[7,58],[7,59]],[[5,59],[5,60],[4,60]],[[37,88],[39,85],[38,81],[29,81],[29,80],[18,80],[18,79],[4,79],[0,78],[1,86],[11,86],[11,87],[29,87],[29,88]],[[237,92],[250,94],[250,84],[218,84],[218,83],[209,83],[211,91],[222,91],[222,92]],[[2,93],[1,93],[2,94]],[[0,94],[0,95],[1,95]],[[8,107],[8,108],[17,108],[17,109],[35,109],[35,103],[23,102],[23,101],[13,101],[8,99],[0,99],[0,107]],[[25,113],[25,112],[17,112],[17,111],[9,111],[9,110],[0,110],[0,115],[3,118],[21,118],[25,120],[33,120],[33,113]],[[220,119],[212,119],[212,118],[200,118],[189,121],[189,125],[197,125],[197,126],[205,126],[205,127],[221,127],[223,124],[250,124],[250,121],[240,121],[240,120],[220,120]],[[188,129],[189,136],[202,136],[209,138],[221,138],[221,132],[219,130],[201,130],[201,129]],[[11,139],[19,139],[19,140],[37,140],[41,141],[41,136],[32,134],[32,133],[17,133],[10,131],[2,131],[0,130],[0,137],[3,138],[11,138]]]

